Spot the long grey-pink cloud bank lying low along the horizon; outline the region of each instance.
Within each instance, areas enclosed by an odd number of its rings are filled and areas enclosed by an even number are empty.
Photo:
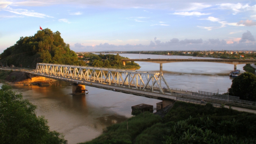
[[[248,32],[246,33],[248,34]],[[243,34],[243,38],[246,38],[246,34]],[[249,34],[250,35],[250,34]],[[247,35],[248,36],[248,35]],[[250,37],[250,36],[249,36]],[[253,37],[254,38],[254,37]],[[151,51],[151,50],[255,50],[255,42],[240,42],[241,38],[231,38],[229,40],[219,40],[219,39],[185,39],[179,40],[178,38],[173,38],[166,42],[161,42],[155,37],[151,40],[148,45],[142,44],[126,44],[126,45],[113,45],[105,42],[104,44],[85,46],[85,47],[75,47],[77,51],[104,51],[104,50],[116,50],[116,51]],[[246,38],[246,40],[253,40],[252,37]],[[77,43],[78,44],[78,43]],[[80,46],[81,44],[79,44]],[[72,48],[72,46],[71,46]],[[76,50],[75,50],[76,51]]]

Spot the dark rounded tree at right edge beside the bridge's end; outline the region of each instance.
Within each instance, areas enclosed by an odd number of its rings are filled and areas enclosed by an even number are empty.
[[[256,76],[245,72],[232,80],[229,95],[243,100],[256,101]]]

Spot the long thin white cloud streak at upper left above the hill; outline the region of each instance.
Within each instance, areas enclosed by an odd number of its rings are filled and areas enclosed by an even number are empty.
[[[11,12],[11,13],[15,13],[18,15],[25,15],[25,16],[30,16],[30,17],[39,17],[39,18],[45,18],[45,17],[51,17],[42,13],[35,13],[32,10],[25,10],[25,9],[12,9],[9,6],[4,8],[3,10]]]

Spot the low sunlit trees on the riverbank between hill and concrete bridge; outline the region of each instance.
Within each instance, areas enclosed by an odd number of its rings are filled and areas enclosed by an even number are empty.
[[[139,69],[140,66],[133,61],[126,61],[125,66],[122,64],[122,59],[129,59],[119,54],[84,54],[84,59],[90,60],[90,65],[93,67],[107,67],[107,68],[118,68],[118,69]]]

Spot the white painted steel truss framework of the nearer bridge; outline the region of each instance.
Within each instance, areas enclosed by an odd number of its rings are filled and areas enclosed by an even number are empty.
[[[87,82],[128,87],[136,90],[152,89],[152,92],[154,92],[155,89],[162,94],[165,94],[167,90],[168,93],[171,93],[171,89],[164,79],[162,72],[144,72],[49,63],[37,63],[36,72],[70,79],[79,79]],[[162,83],[164,83],[163,86]],[[163,88],[166,88],[166,90]]]

